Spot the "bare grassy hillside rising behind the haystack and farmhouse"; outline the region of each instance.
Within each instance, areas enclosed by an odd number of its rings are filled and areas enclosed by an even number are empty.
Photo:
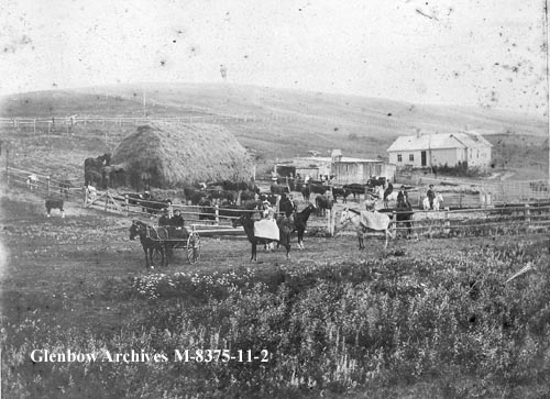
[[[548,165],[548,149],[544,151],[548,133],[540,119],[491,109],[416,106],[253,86],[142,84],[20,93],[1,99],[0,117],[142,117],[143,93],[145,114],[150,117],[253,114],[264,118],[258,122],[227,124],[242,145],[264,160],[305,155],[309,149],[327,154],[333,148],[349,156],[386,156],[386,148],[396,136],[414,134],[417,129],[426,133],[472,129],[483,134],[501,134],[487,136],[497,144],[495,149],[505,148],[504,153],[495,154],[497,166],[525,167],[525,158],[516,156],[525,143],[530,143],[534,151],[529,156],[535,157],[541,170]],[[273,117],[285,120],[273,120]]]

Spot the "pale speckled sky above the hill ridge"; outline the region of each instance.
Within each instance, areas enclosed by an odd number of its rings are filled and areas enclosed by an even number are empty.
[[[226,81],[544,117],[544,16],[543,0],[2,0],[0,95]]]

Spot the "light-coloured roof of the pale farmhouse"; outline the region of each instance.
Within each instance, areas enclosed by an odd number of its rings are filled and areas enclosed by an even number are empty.
[[[442,148],[472,148],[490,146],[491,143],[475,132],[422,134],[420,136],[399,136],[387,148],[387,152],[442,149]]]

